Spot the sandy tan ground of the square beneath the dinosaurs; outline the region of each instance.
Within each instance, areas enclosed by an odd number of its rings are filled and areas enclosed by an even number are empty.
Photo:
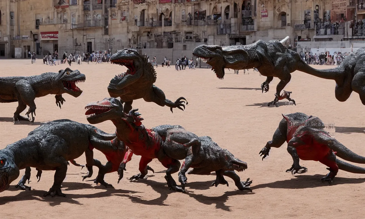
[[[58,72],[68,65],[49,66],[27,60],[0,60],[0,77],[31,76],[47,71]],[[321,66],[315,66],[316,68]],[[323,66],[324,68],[326,66]],[[84,92],[78,98],[64,94],[66,102],[60,110],[54,95],[35,99],[37,116],[34,123],[13,124],[12,116],[18,103],[0,104],[0,148],[27,136],[28,132],[47,121],[71,119],[88,123],[84,107],[87,103],[109,97],[107,85],[115,74],[125,67],[111,64],[72,64],[86,75],[85,83],[78,84]],[[211,187],[215,176],[187,175],[186,193],[168,189],[165,168],[157,161],[150,163],[155,170],[148,178],[129,182],[126,178],[138,173],[139,156],[134,155],[127,164],[123,180],[117,184],[118,174],[110,173],[105,181],[115,188],[96,186],[92,181],[82,181],[85,169],[70,165],[62,190],[67,197],[43,197],[53,184],[53,171],[43,171],[37,183],[36,170],[32,168],[31,191],[14,188],[0,194],[1,218],[364,218],[361,203],[365,201],[365,177],[339,171],[332,185],[319,179],[327,174],[326,166],[314,161],[300,161],[308,168],[304,174],[285,173],[292,165],[292,158],[285,144],[273,148],[264,161],[258,155],[266,142],[271,140],[282,113],[303,112],[321,118],[326,124],[334,123],[334,137],[354,152],[365,155],[364,105],[357,93],[346,102],[335,99],[335,82],[316,78],[302,72],[292,73],[285,90],[292,91],[296,106],[282,103],[267,107],[274,99],[278,78],[270,83],[270,91],[261,93],[265,77],[258,72],[238,75],[226,69],[224,80],[218,80],[210,69],[179,70],[159,66],[157,82],[166,97],[172,101],[184,96],[189,105],[186,110],[134,101],[139,108],[143,124],[153,127],[160,124],[180,124],[195,134],[209,135],[222,148],[246,161],[248,169],[238,173],[241,180],[253,180],[253,192],[239,191],[226,177],[229,187]],[[0,88],[1,89],[1,88]],[[281,101],[283,102],[283,101]],[[24,116],[26,111],[21,115]],[[110,122],[96,125],[103,131],[114,132]],[[103,163],[106,159],[94,150],[95,157]],[[85,157],[76,159],[84,164]],[[362,165],[364,166],[364,165]],[[96,172],[95,172],[96,171]],[[22,175],[24,170],[20,171]],[[97,170],[94,167],[94,176]],[[174,174],[177,181],[177,173]]]

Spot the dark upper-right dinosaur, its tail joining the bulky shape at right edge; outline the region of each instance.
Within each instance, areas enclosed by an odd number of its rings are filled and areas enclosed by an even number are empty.
[[[282,41],[270,40],[268,43],[259,40],[245,46],[207,46],[201,45],[193,50],[193,54],[207,61],[212,66],[216,76],[223,79],[224,69],[257,69],[266,80],[261,84],[262,92],[269,91],[269,83],[273,77],[281,81],[276,87],[275,99],[268,103],[277,103],[278,100],[290,98],[290,93],[280,92],[289,83],[291,73],[299,70],[316,77],[331,79],[336,81],[336,99],[346,101],[351,92],[359,93],[362,104],[365,105],[365,65],[362,54],[365,54],[365,47],[358,49],[347,57],[341,65],[334,69],[314,69],[307,65],[300,55],[283,44],[289,39],[286,37]]]

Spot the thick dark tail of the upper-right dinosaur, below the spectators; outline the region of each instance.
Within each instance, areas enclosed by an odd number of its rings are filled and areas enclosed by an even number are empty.
[[[300,61],[298,62],[297,70],[305,72],[307,74],[311,74],[316,77],[330,80],[341,79],[342,73],[344,72],[342,65],[339,65],[338,67],[331,69],[315,69],[309,66],[307,63],[305,63],[301,58]]]

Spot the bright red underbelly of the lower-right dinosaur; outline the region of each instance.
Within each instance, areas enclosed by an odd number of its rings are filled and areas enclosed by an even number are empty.
[[[301,160],[319,161],[326,157],[331,149],[322,144],[303,145],[296,148]]]

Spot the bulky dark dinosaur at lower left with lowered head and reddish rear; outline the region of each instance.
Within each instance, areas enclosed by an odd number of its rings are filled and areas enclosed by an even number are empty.
[[[106,165],[93,159],[93,148],[105,154],[108,159]],[[99,174],[95,183],[106,187],[110,184],[104,181],[105,173],[116,171],[127,151],[128,148],[115,134],[105,133],[89,124],[68,119],[47,122],[29,132],[26,138],[0,150],[0,192],[8,189],[10,183],[18,178],[20,169],[26,171],[16,187],[30,190],[24,184],[27,180],[29,183],[30,167],[34,167],[38,170],[39,180],[42,170],[56,171],[53,186],[44,196],[65,196],[61,191],[61,184],[66,177],[68,161],[76,166],[83,166],[76,164],[74,159],[84,152],[89,170],[86,177],[91,177],[92,166],[97,166]]]

